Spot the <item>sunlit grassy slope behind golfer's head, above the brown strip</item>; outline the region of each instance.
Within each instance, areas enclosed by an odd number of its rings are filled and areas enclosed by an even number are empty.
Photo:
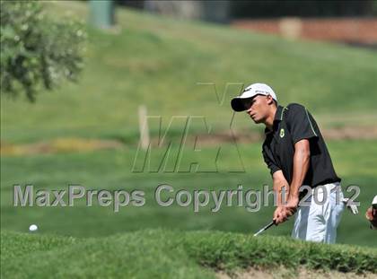
[[[70,11],[87,17],[83,3],[47,6],[52,16]],[[162,116],[163,125],[173,116],[194,115],[204,116],[214,132],[228,130],[229,100],[242,83],[258,81],[271,84],[282,104],[307,105],[323,126],[368,126],[377,120],[373,51],[123,9],[117,13],[118,32],[89,29],[86,66],[78,84],[41,92],[36,104],[2,99],[3,141],[136,136],[140,104],[149,115]],[[215,88],[198,83],[214,83]],[[249,119],[236,115],[234,128],[244,127],[250,127]]]

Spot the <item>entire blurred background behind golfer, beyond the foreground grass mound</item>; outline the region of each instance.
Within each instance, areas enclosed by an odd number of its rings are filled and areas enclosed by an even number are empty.
[[[345,212],[338,241],[376,246],[364,212],[377,194],[377,1],[17,3],[2,1],[2,230],[36,223],[39,233],[80,237],[145,228],[257,231],[272,206],[258,213],[207,206],[196,214],[157,205],[153,191],[163,183],[189,191],[271,185],[263,127],[229,106],[243,85],[262,82],[281,104],[311,111],[343,187],[361,187],[360,214]],[[197,118],[187,126],[189,117]],[[169,171],[162,171],[168,147]],[[15,184],[141,189],[146,204],[118,214],[84,202],[15,207]],[[289,235],[292,223],[267,233]]]

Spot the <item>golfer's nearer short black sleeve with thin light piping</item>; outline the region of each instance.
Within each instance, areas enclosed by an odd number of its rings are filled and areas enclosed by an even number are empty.
[[[286,123],[294,144],[302,139],[318,137],[318,126],[305,107],[299,104],[292,104],[288,106],[287,112]]]

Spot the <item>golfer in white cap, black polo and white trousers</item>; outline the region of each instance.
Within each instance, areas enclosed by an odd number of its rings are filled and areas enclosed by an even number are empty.
[[[335,243],[344,196],[311,113],[296,103],[277,105],[275,92],[264,83],[251,84],[231,105],[266,126],[262,154],[278,194],[273,216],[276,224],[295,214],[294,239]],[[303,188],[309,192],[301,191]],[[298,206],[301,199],[304,203]]]

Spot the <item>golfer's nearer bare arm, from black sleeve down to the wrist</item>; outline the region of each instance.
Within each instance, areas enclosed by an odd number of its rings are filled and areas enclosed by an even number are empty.
[[[299,189],[309,169],[311,150],[308,140],[301,140],[294,144],[294,174],[289,187],[290,200],[298,200]]]

